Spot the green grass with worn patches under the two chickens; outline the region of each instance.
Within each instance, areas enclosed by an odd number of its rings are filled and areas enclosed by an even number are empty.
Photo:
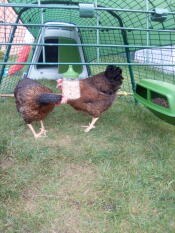
[[[35,140],[14,100],[0,112],[0,232],[175,232],[173,126],[120,97],[89,133],[56,107]]]

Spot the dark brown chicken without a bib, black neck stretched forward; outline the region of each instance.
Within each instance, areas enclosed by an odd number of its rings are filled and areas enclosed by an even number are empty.
[[[43,119],[53,110],[56,104],[60,104],[62,96],[53,94],[51,89],[29,78],[24,78],[18,82],[14,95],[16,108],[31,129],[34,137],[46,136]],[[31,125],[33,121],[40,121],[41,129],[39,133],[36,133]]]

